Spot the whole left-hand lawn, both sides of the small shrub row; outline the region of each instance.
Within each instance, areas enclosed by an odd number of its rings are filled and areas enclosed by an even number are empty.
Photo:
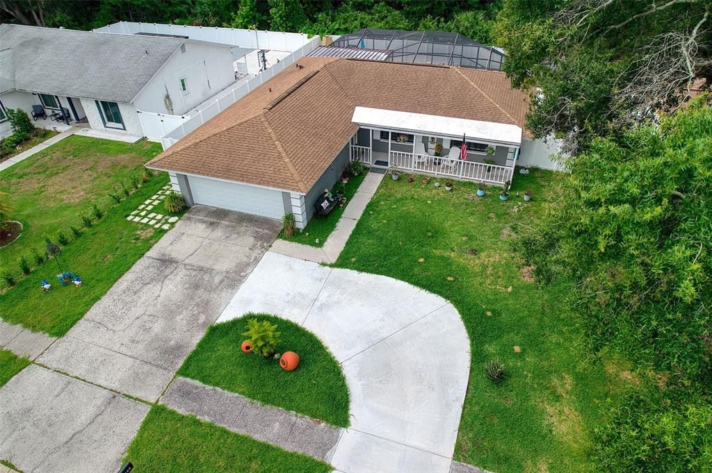
[[[55,147],[61,147],[63,154]],[[166,230],[129,222],[125,216],[167,184],[168,178],[164,173],[150,176],[137,191],[116,204],[108,197],[112,184],[120,180],[128,181],[131,175],[139,175],[142,171],[139,163],[159,151],[155,144],[140,142],[128,145],[103,139],[70,137],[49,150],[53,151],[40,156],[42,161],[47,160],[45,171],[33,162],[34,158],[30,158],[0,174],[2,179],[8,179],[2,185],[12,189],[14,203],[20,203],[16,218],[26,222],[28,230],[27,235],[23,233],[19,240],[0,249],[0,255],[4,265],[7,260],[13,261],[11,270],[17,266],[16,261],[21,255],[33,262],[31,248],[43,251],[43,235],[51,235],[52,240],[58,243],[54,235],[61,229],[69,239],[67,245],[61,245],[59,260],[62,268],[78,274],[83,285],[80,288],[73,285],[61,287],[55,277],[59,267],[54,260],[38,266],[33,264],[36,267],[28,277],[21,277],[18,267],[15,272],[18,282],[4,289],[1,305],[5,321],[21,324],[33,331],[45,331],[52,336],[62,336],[164,235]],[[49,156],[54,156],[54,159]],[[101,159],[110,162],[98,164]],[[51,169],[55,166],[55,160],[57,169]],[[64,171],[57,174],[58,169]],[[103,169],[101,173],[100,169]],[[91,179],[86,181],[88,178],[77,177],[83,173],[92,176]],[[53,184],[54,179],[61,179],[62,185],[59,182]],[[84,193],[84,197],[73,204],[63,200],[51,206],[41,204],[51,195],[67,196],[72,193]],[[86,211],[92,202],[103,209],[103,217],[95,220],[91,228],[83,228],[79,237],[73,236],[68,225],[82,225],[78,214]],[[40,289],[43,278],[53,285],[47,293]]]

